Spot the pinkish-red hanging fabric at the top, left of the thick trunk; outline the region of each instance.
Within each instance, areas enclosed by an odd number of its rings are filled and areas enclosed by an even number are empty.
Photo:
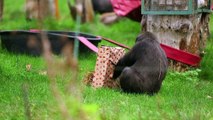
[[[141,20],[141,0],[111,0],[113,10],[118,16],[135,21]]]

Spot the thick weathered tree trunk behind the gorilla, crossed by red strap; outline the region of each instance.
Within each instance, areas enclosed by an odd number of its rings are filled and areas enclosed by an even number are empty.
[[[152,4],[150,7],[162,10],[164,7],[171,7],[168,4],[172,2],[173,0],[159,0],[159,6]],[[163,5],[164,3],[166,5]],[[209,20],[208,13],[191,15],[147,14],[142,18],[142,26],[143,31],[154,33],[160,43],[202,57],[209,36]],[[177,71],[185,71],[189,68],[188,65],[173,60],[169,60],[169,65]]]

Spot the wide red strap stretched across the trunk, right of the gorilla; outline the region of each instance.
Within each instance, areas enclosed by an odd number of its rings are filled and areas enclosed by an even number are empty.
[[[176,60],[191,66],[198,66],[200,64],[201,58],[197,55],[193,55],[164,44],[161,44],[161,47],[166,52],[166,56],[172,60]]]

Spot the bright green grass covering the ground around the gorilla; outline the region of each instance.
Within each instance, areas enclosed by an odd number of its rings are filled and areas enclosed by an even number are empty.
[[[13,4],[11,4],[13,2]],[[26,22],[22,1],[5,1],[4,21],[0,30],[16,30],[37,28],[36,21]],[[43,28],[49,30],[74,31],[75,23],[69,16],[66,1],[60,0],[61,19],[45,22]],[[213,20],[213,16],[211,16]],[[211,26],[213,22],[211,21]],[[105,26],[98,21],[81,26],[81,31],[106,36],[128,46],[134,44],[140,32],[139,23],[123,19],[120,22]],[[213,28],[211,28],[213,34]],[[212,76],[212,41],[207,44],[207,54],[203,58],[201,72],[192,70],[185,73],[169,72],[162,89],[154,96],[125,94],[112,89],[93,89],[84,86],[82,101],[73,102],[73,95],[65,92],[69,79],[57,79],[62,98],[69,113],[76,115],[79,104],[89,109],[93,119],[100,114],[107,120],[138,120],[138,119],[213,119],[213,76]],[[112,45],[105,41],[103,45]],[[60,59],[60,57],[58,58]],[[95,54],[80,54],[79,80],[94,70]],[[26,65],[31,64],[31,71]],[[22,85],[28,84],[30,111],[33,119],[63,119],[58,104],[50,90],[49,78],[39,74],[47,69],[42,57],[15,55],[0,49],[0,119],[25,119]],[[206,80],[207,79],[207,80]],[[96,115],[94,115],[96,114]]]

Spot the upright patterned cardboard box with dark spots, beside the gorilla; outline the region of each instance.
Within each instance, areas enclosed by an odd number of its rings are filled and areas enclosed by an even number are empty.
[[[125,50],[120,47],[102,46],[99,48],[94,77],[92,80],[93,87],[113,88],[116,86],[117,83],[112,80],[114,66],[124,53]]]

